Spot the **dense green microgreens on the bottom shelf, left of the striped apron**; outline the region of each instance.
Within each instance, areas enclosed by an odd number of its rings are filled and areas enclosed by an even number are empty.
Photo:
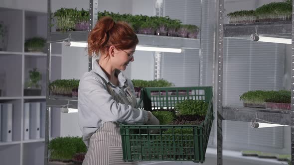
[[[86,153],[82,138],[58,137],[50,140],[48,144],[51,160],[71,160],[76,153]]]

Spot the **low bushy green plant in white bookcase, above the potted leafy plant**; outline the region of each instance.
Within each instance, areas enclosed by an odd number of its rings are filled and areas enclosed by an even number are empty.
[[[46,44],[46,40],[42,37],[33,37],[25,40],[24,49],[25,51],[35,52],[42,51]]]

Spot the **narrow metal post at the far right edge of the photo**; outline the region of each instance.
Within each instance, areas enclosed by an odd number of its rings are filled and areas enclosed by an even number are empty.
[[[294,0],[292,1],[291,164],[294,165]]]

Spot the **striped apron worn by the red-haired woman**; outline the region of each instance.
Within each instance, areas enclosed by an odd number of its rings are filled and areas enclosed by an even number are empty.
[[[102,78],[102,77],[101,77]],[[106,81],[102,78],[106,83]],[[130,87],[113,89],[106,83],[114,100],[122,104],[136,106],[136,96]],[[137,165],[138,162],[124,162],[120,126],[116,122],[105,122],[90,138],[90,144],[83,165]]]

